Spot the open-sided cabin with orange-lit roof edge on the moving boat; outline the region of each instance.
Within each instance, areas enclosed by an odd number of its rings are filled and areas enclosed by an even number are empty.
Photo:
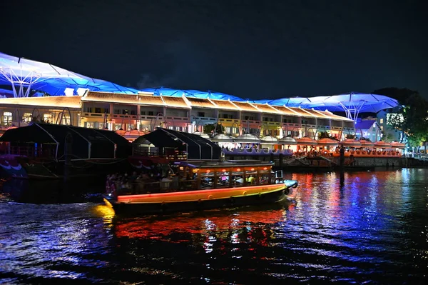
[[[180,161],[177,175],[192,189],[221,189],[275,183],[273,164],[258,160]]]

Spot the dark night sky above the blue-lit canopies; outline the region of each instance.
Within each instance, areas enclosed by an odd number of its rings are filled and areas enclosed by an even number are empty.
[[[426,0],[1,2],[1,52],[125,86],[428,98]]]

